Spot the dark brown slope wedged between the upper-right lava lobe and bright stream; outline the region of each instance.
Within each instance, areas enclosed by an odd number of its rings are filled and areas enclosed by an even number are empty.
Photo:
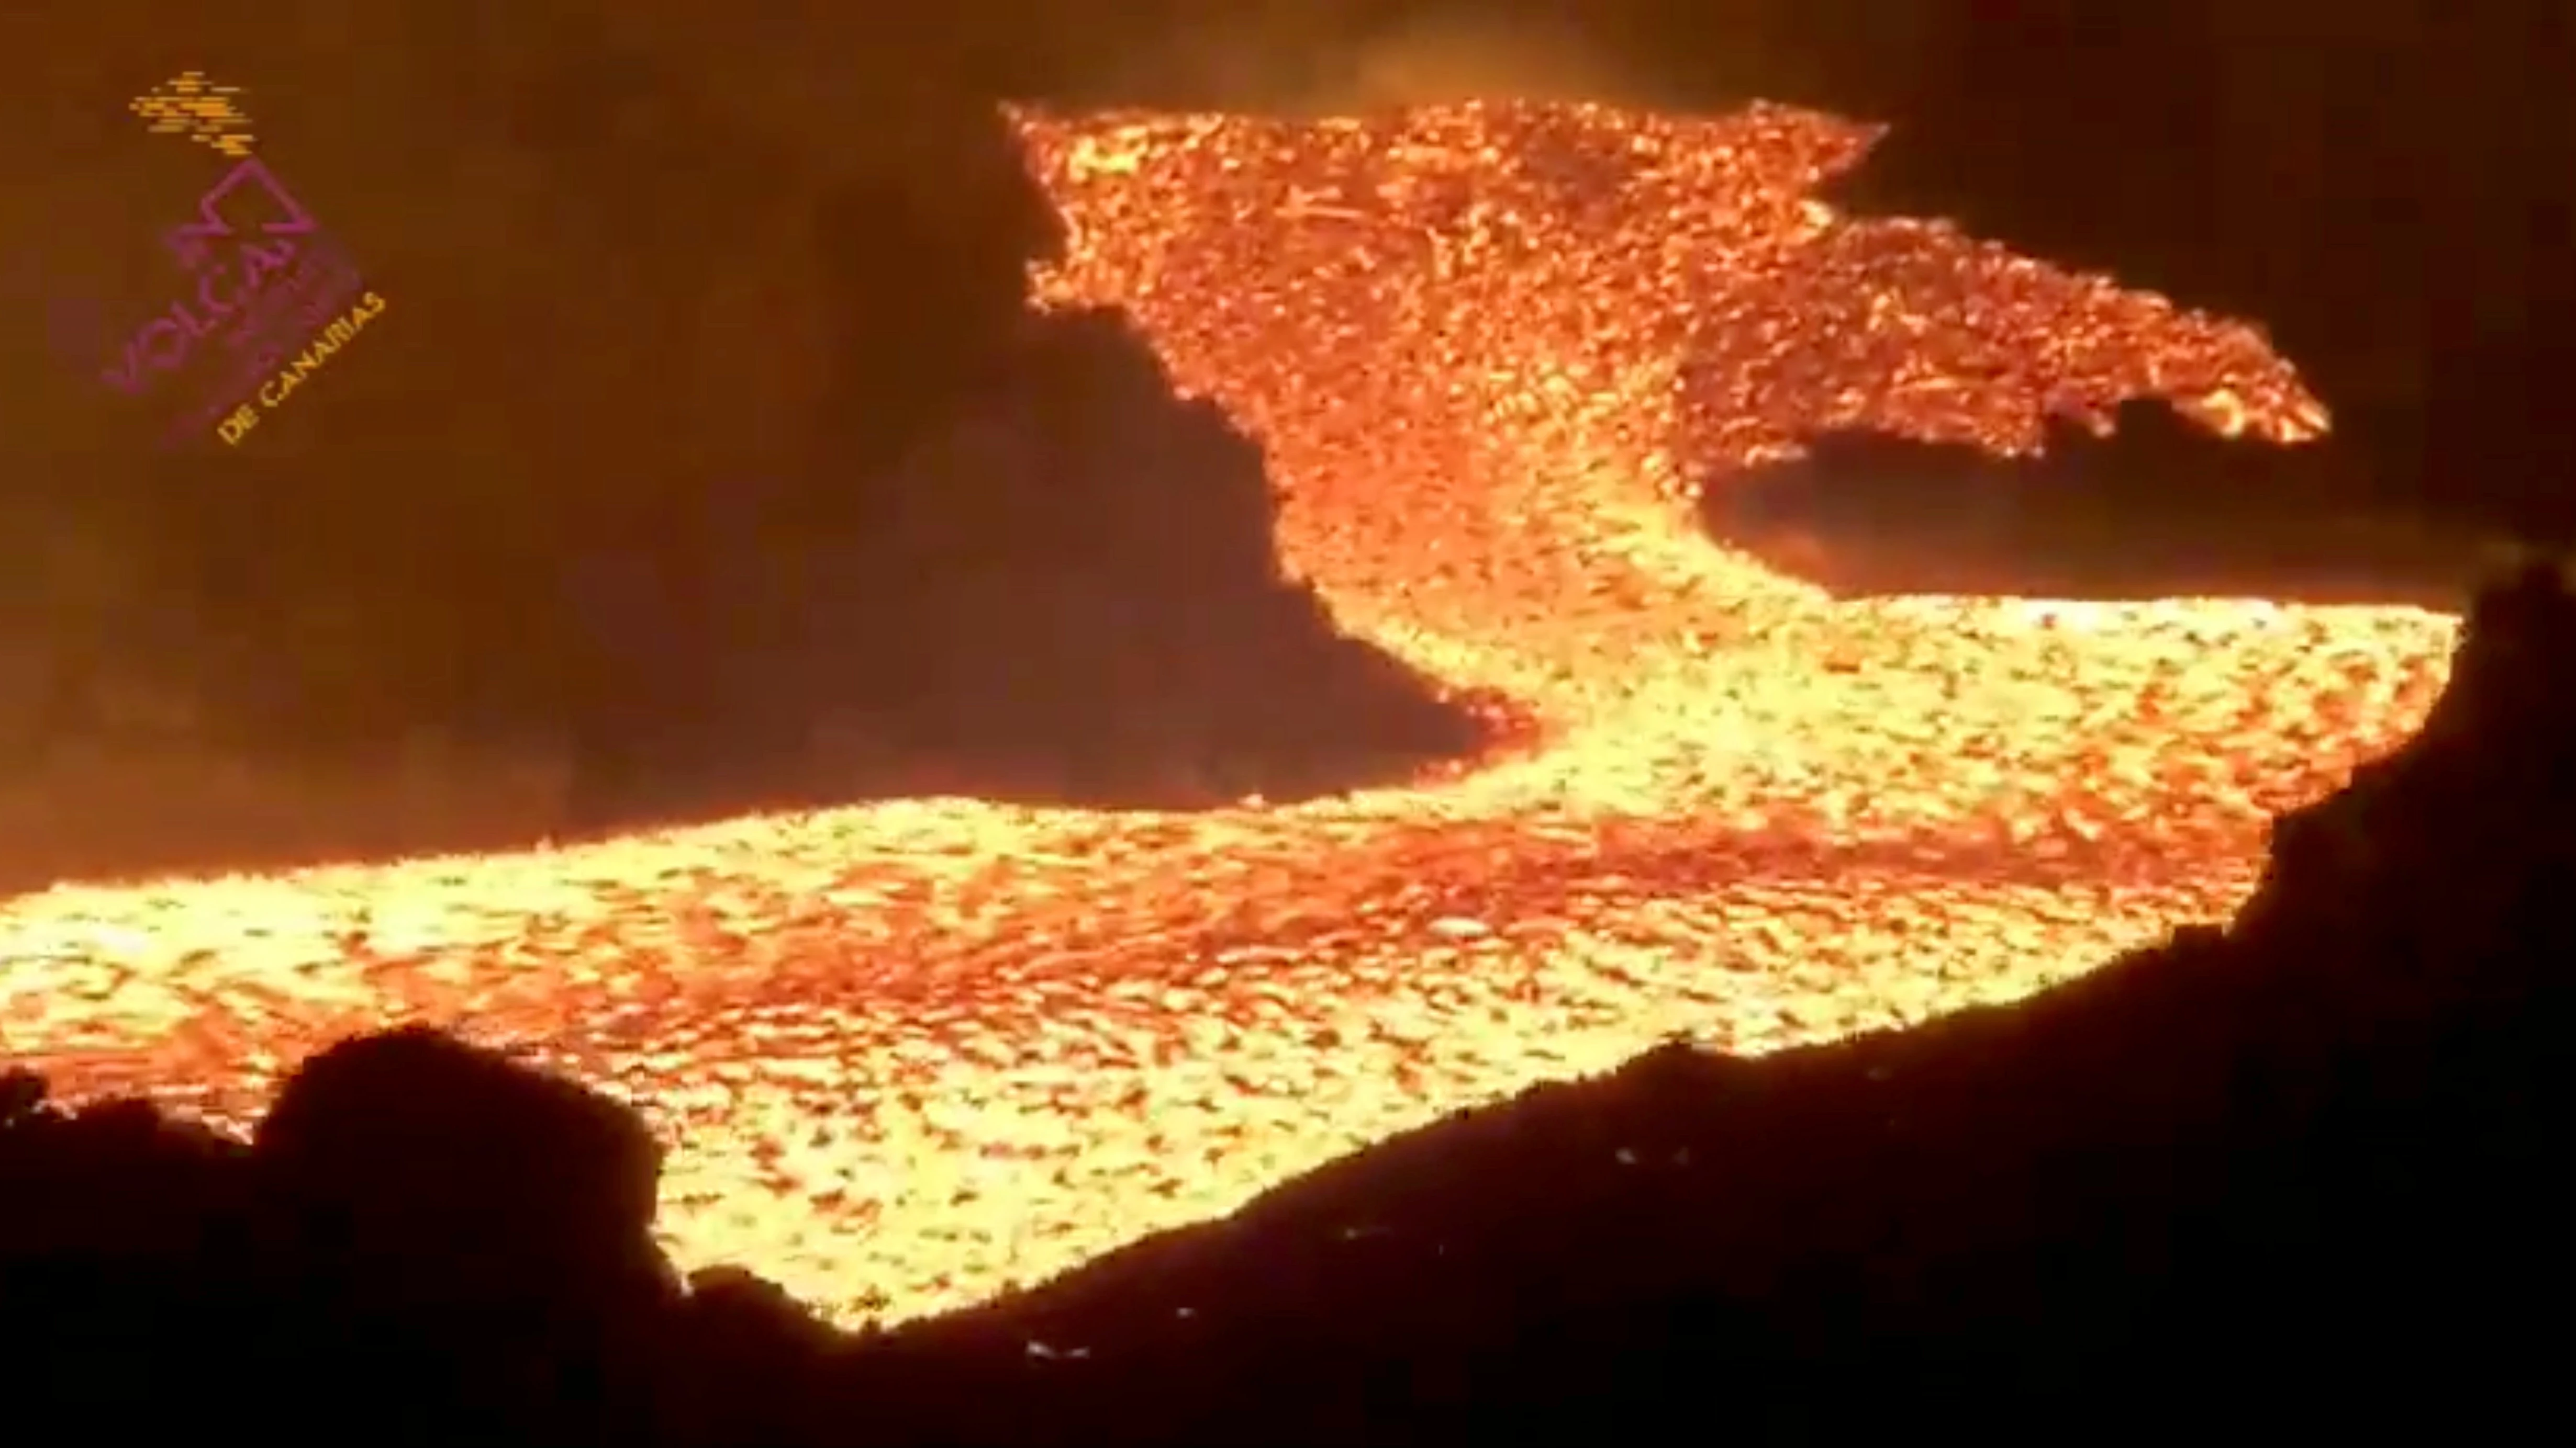
[[[1873,430],[1718,474],[1700,523],[1839,595],[2277,598],[2460,611],[2512,549],[2354,500],[2352,448],[2228,441],[2161,402],[2107,435],[2050,420],[2038,453]]]

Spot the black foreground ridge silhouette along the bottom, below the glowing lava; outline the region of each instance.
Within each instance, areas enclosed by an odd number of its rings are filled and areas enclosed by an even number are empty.
[[[2530,569],[2226,930],[1917,1031],[1651,1051],[889,1335],[683,1288],[644,1129],[438,1036],[307,1062],[247,1147],[8,1077],[0,1394],[389,1443],[2496,1435],[2571,1286],[2568,739],[2576,595]]]

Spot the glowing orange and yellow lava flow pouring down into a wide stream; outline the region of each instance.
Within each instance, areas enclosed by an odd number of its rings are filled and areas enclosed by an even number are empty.
[[[1692,531],[1808,428],[2025,446],[2164,394],[2324,420],[2254,332],[1837,219],[1857,126],[1455,106],[1023,116],[1072,247],[1270,451],[1342,626],[1543,739],[1301,806],[922,799],[0,904],[0,1054],[242,1121],[435,1020],[667,1134],[662,1232],[842,1322],[992,1296],[1687,1033],[2009,1000],[2223,917],[2264,817],[2411,732],[2455,621],[1834,603]],[[2251,443],[2249,443],[2251,446]]]

